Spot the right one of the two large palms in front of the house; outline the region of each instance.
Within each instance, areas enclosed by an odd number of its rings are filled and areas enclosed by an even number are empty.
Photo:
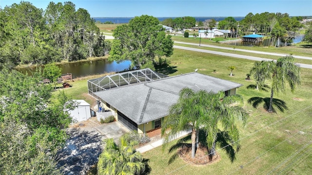
[[[226,134],[231,146],[239,150],[239,132],[236,121],[242,121],[245,125],[248,114],[239,104],[243,104],[240,95],[226,96],[224,92],[210,94],[209,105],[206,107],[208,119],[202,122],[203,129],[206,131],[207,143],[211,155],[215,155],[215,143],[218,134]],[[221,129],[219,128],[221,127]]]

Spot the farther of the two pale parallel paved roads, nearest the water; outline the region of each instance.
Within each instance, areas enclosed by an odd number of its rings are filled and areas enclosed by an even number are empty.
[[[179,44],[188,44],[188,45],[194,45],[198,46],[196,43],[188,43],[188,42],[180,42],[180,41],[175,41],[175,43]],[[282,53],[267,53],[267,52],[261,52],[261,51],[251,51],[251,50],[245,50],[245,49],[234,49],[234,48],[228,48],[228,47],[221,47],[221,46],[214,46],[214,45],[208,45],[208,44],[200,44],[202,47],[211,47],[211,48],[217,48],[217,49],[226,49],[226,50],[231,50],[231,51],[241,51],[241,52],[249,52],[249,53],[259,53],[259,54],[268,54],[268,55],[276,55],[276,56],[286,56],[287,54],[282,54]],[[309,59],[312,60],[312,57],[308,56],[298,56],[298,55],[292,55],[294,58],[300,58],[300,59]]]

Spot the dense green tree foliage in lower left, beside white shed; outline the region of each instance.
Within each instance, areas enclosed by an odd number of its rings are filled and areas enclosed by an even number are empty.
[[[0,174],[59,174],[55,156],[65,143],[72,103],[64,93],[51,103],[41,73],[0,72]]]

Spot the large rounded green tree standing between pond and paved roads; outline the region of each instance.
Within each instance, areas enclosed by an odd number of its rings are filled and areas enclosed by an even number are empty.
[[[142,15],[117,26],[113,36],[109,60],[130,60],[131,68],[154,69],[156,56],[173,54],[171,35],[166,36],[158,19],[152,16]]]

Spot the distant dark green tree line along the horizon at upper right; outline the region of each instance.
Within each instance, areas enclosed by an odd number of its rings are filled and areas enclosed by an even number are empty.
[[[233,17],[225,18],[219,21],[217,27],[221,30],[230,30],[230,37],[237,35],[248,35],[258,33],[271,36],[271,45],[273,41],[281,41],[285,45],[292,42],[292,39],[299,35],[298,31],[304,27],[300,21],[303,17],[290,17],[287,13],[269,13],[260,14],[249,13],[241,21],[236,21]],[[163,25],[177,29],[195,27],[196,20],[193,17],[168,18],[162,21]],[[216,24],[215,19],[206,19],[197,22],[199,27],[212,30]]]

